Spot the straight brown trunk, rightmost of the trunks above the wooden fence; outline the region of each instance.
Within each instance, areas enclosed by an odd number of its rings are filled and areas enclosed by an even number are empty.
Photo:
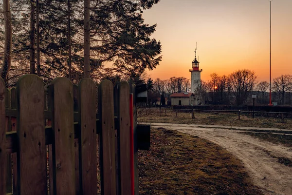
[[[84,78],[90,78],[90,0],[84,0]]]

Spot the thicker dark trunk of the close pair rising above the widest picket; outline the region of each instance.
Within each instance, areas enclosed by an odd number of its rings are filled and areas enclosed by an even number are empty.
[[[29,72],[30,74],[36,74],[36,46],[35,46],[35,0],[30,0],[31,15],[30,15],[30,54],[29,54]]]

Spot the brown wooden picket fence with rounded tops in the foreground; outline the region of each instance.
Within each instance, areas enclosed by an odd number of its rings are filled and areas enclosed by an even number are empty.
[[[127,82],[0,78],[0,195],[130,195],[131,114]]]

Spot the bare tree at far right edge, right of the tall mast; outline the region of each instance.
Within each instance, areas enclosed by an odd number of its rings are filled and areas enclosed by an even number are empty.
[[[273,79],[272,89],[278,95],[279,100],[284,104],[284,95],[292,88],[292,75],[281,75]]]

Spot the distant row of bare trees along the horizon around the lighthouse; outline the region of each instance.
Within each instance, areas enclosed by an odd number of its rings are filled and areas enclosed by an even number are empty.
[[[198,88],[193,92],[199,104],[244,105],[252,102],[252,95],[256,95],[256,102],[261,105],[269,104],[269,88],[267,81],[257,80],[256,73],[251,70],[237,70],[230,75],[210,75],[210,80],[197,80]],[[152,78],[144,80],[148,86],[148,103],[155,103],[158,98],[167,98],[170,104],[172,93],[190,93],[190,79],[171,77],[162,80]],[[274,78],[271,85],[272,102],[281,105],[292,104],[292,75],[281,75]],[[162,100],[164,103],[164,100]]]

